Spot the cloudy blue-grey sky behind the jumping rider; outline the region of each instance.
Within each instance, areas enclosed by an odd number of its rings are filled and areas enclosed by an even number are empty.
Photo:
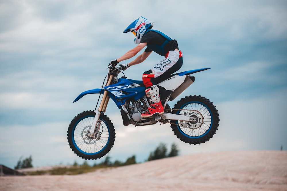
[[[160,143],[168,150],[177,144],[180,155],[287,149],[287,1],[0,0],[0,164],[14,168],[30,155],[36,167],[85,161],[69,148],[67,129],[77,114],[95,109],[98,96],[72,102],[100,88],[110,60],[136,46],[123,31],[139,16],[178,41],[179,72],[211,68],[195,73],[170,107],[181,97],[204,96],[216,105],[220,125],[208,142],[189,145],[169,124],[123,126],[110,101],[111,161],[136,155],[144,162]],[[125,76],[141,80],[161,59],[152,53]]]

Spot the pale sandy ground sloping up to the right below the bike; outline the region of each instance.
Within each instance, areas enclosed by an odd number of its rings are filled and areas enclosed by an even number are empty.
[[[287,151],[171,157],[81,175],[4,176],[1,191],[287,191]]]

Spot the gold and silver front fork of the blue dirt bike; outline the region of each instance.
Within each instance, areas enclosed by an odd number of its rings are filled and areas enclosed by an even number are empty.
[[[117,75],[117,74],[116,73],[112,73],[109,70],[108,80],[107,80],[105,86],[109,86],[113,82],[113,79],[115,78],[115,75]],[[90,129],[90,132],[88,132],[88,137],[96,138],[96,139],[100,138],[100,126],[101,126],[101,123],[99,123],[99,118],[100,118],[100,115],[102,113],[106,112],[106,108],[107,108],[109,99],[110,99],[110,97],[108,96],[108,91],[104,90],[104,94],[103,94],[103,97],[102,97],[102,101],[100,103],[100,107],[99,107],[98,111],[96,111],[96,109],[94,111],[96,113],[96,115],[95,115],[95,117],[93,119],[93,123],[92,123],[92,127]]]

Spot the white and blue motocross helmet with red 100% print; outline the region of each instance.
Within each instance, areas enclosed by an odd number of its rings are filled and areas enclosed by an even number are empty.
[[[135,19],[125,30],[124,33],[132,32],[135,35],[135,44],[139,44],[141,42],[141,38],[148,28],[152,26],[151,22],[144,18],[139,17]]]

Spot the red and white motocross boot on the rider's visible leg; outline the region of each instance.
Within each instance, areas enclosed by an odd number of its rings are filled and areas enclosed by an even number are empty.
[[[160,95],[159,95],[159,89],[157,85],[153,85],[146,90],[146,96],[150,101],[150,107],[148,108],[148,111],[141,114],[141,117],[151,117],[152,115],[158,113],[159,115],[164,113],[164,108],[162,106],[162,103],[160,102]]]

